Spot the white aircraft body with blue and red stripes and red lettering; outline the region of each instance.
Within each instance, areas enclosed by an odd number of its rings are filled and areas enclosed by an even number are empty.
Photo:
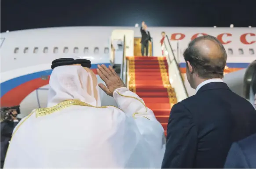
[[[150,55],[162,56],[160,40],[161,32],[164,31],[167,35],[165,46],[170,43],[183,76],[185,61],[182,53],[191,39],[203,34],[216,36],[223,43],[228,54],[226,72],[247,68],[256,60],[256,28],[149,27],[148,30],[152,37]],[[1,107],[20,105],[22,117],[34,108],[45,107],[52,71],[51,61],[78,56],[91,60],[94,71],[97,64],[122,65],[123,56],[140,53],[140,37],[140,29],[136,27],[106,26],[58,27],[1,33]],[[165,55],[168,53],[170,55],[170,52],[165,51]],[[121,72],[124,72],[124,68],[121,68]],[[98,81],[101,82],[99,77]],[[190,88],[186,78],[184,83],[188,95],[192,95],[194,90]],[[102,105],[114,104],[110,97],[104,93],[101,95]]]

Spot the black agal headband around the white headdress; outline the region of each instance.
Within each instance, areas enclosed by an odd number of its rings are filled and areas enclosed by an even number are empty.
[[[51,69],[54,69],[58,66],[65,66],[65,65],[75,65],[80,64],[83,67],[91,68],[91,61],[87,59],[73,59],[73,58],[60,58],[55,59],[51,62]]]

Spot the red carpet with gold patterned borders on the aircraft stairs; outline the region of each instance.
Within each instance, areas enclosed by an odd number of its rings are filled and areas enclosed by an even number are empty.
[[[162,126],[167,129],[176,93],[169,83],[168,63],[165,57],[127,57],[129,89],[141,97]]]

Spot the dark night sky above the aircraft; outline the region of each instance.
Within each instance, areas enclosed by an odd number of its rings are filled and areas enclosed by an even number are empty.
[[[256,0],[1,0],[1,32],[58,26],[256,27]]]

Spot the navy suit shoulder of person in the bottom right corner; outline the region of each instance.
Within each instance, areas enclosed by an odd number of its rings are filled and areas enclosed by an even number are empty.
[[[256,134],[232,144],[225,169],[256,169]]]

